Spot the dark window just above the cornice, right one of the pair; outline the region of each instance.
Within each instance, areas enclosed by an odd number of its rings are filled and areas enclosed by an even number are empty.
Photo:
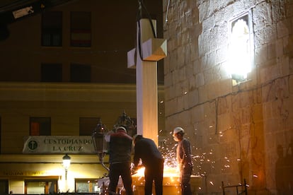
[[[91,66],[82,64],[70,65],[70,81],[77,83],[91,82]]]

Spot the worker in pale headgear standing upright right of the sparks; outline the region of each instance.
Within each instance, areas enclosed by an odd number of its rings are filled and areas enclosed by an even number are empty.
[[[176,161],[180,170],[180,185],[182,195],[191,195],[190,176],[193,172],[190,141],[183,137],[184,129],[176,127],[173,130],[173,138],[178,141],[176,148]]]

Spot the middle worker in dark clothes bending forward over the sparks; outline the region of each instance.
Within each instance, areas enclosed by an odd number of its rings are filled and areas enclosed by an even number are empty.
[[[149,138],[144,138],[142,135],[136,135],[134,141],[134,167],[139,165],[139,160],[142,160],[144,165],[144,194],[151,195],[153,181],[155,184],[156,195],[163,194],[163,157],[154,143]]]

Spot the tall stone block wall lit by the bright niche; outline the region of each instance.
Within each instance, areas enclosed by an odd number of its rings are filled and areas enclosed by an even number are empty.
[[[163,1],[163,13],[166,131],[185,129],[199,193],[246,179],[248,194],[292,194],[293,1]],[[229,27],[246,13],[252,69],[235,82]]]

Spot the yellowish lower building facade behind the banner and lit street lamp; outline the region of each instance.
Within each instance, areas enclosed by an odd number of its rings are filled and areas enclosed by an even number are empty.
[[[80,118],[102,119],[109,130],[123,111],[134,119],[135,85],[0,85],[2,185],[13,194],[99,192],[98,179],[108,172],[99,162],[91,136],[79,136]],[[161,87],[159,94],[162,98]],[[30,136],[32,116],[50,117],[50,136]],[[38,148],[30,148],[30,141]],[[71,157],[67,179],[62,165],[65,154]],[[107,162],[108,155],[106,166]]]

